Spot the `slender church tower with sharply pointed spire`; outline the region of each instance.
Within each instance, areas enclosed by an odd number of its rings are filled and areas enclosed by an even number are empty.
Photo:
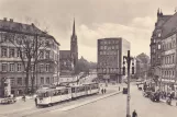
[[[70,56],[74,61],[74,69],[76,69],[76,66],[78,63],[78,45],[77,45],[77,35],[75,31],[75,19],[74,19],[74,25],[73,25],[73,34],[70,37]]]

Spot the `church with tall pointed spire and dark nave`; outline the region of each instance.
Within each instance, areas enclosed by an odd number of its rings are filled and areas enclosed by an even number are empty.
[[[75,31],[75,20],[73,25],[73,35],[70,37],[70,50],[59,50],[59,52],[60,75],[74,73],[78,63],[78,45]]]

